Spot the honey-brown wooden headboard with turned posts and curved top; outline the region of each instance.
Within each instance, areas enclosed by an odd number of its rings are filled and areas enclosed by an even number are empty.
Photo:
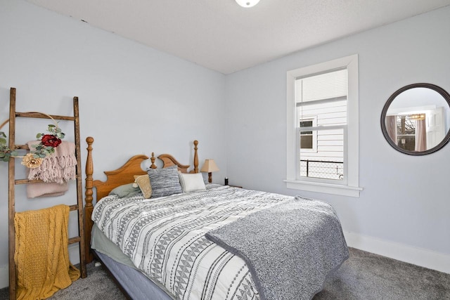
[[[92,144],[94,143],[94,138],[91,136],[86,138],[86,143],[88,145],[87,149],[87,157],[86,157],[86,187],[84,195],[86,204],[84,205],[84,237],[85,237],[85,253],[86,253],[86,262],[91,262],[94,259],[94,256],[91,253],[91,230],[92,226],[94,226],[94,222],[91,220],[92,211],[94,209],[94,205],[92,201],[94,200],[94,188],[96,188],[96,201],[100,201],[101,198],[107,196],[111,190],[117,188],[117,186],[124,185],[127,183],[134,182],[134,175],[144,175],[147,174],[147,171],[144,171],[141,168],[141,164],[143,160],[148,159],[149,157],[146,155],[134,155],[130,159],[128,159],[125,164],[116,169],[114,171],[104,171],[106,175],[106,181],[94,180],[92,178],[92,174],[94,174],[94,162],[92,161]],[[198,141],[194,141],[194,168],[190,173],[198,173]],[[178,166],[179,171],[183,173],[188,173],[189,167],[188,164],[180,164],[172,155],[162,154],[158,156],[158,159],[162,160],[162,167],[172,167]],[[152,152],[152,157],[150,157],[152,164],[150,165],[151,169],[156,169],[155,165],[155,154]]]

